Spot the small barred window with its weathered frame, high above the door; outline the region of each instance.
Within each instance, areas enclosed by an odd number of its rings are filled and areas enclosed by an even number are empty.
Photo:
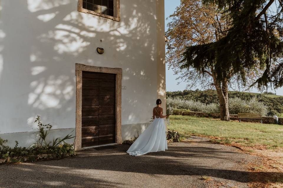
[[[120,21],[120,0],[79,0],[78,11]]]

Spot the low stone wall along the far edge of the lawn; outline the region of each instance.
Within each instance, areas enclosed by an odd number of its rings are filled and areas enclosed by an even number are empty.
[[[213,117],[213,118],[220,118],[220,114],[218,113],[205,113],[205,112],[186,112],[186,115],[190,116],[197,116],[197,117]],[[231,120],[239,120],[237,114],[230,114]],[[260,120],[254,120],[254,119],[241,119],[243,122],[260,122]],[[280,125],[283,125],[283,117],[278,118],[278,122]],[[262,123],[266,124],[273,124],[274,120],[273,117],[263,117]]]

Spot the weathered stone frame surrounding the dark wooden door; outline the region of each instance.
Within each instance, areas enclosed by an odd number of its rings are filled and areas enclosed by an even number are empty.
[[[121,120],[121,101],[122,101],[122,69],[87,66],[76,63],[76,137],[75,151],[82,149],[82,86],[83,71],[116,74],[116,144],[122,144],[122,120]]]

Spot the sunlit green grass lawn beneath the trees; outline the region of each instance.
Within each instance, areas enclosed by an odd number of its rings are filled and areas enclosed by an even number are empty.
[[[178,131],[181,139],[192,134],[221,137],[218,142],[238,142],[243,145],[265,145],[269,149],[283,147],[283,125],[260,124],[250,122],[171,115],[170,125],[167,127]]]

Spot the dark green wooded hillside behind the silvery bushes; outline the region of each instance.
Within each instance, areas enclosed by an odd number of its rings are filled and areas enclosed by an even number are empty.
[[[215,90],[184,90],[167,92],[167,97],[178,97],[186,100],[195,100],[202,103],[219,103],[218,96]],[[259,101],[264,102],[269,107],[269,116],[283,115],[283,96],[270,93],[249,93],[239,91],[229,91],[229,98],[241,98],[242,100],[249,100],[253,97],[258,98]],[[282,114],[282,115],[281,115]]]

